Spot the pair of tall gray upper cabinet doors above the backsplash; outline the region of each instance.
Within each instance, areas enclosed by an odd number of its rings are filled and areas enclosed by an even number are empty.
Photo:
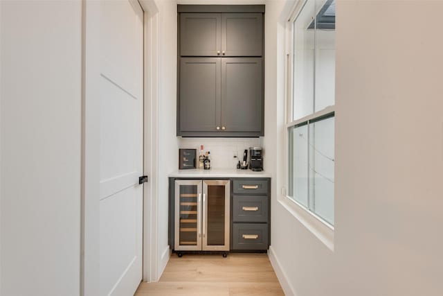
[[[263,135],[262,58],[180,58],[177,135]]]

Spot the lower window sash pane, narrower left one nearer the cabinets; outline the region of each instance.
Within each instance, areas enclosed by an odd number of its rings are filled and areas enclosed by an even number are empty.
[[[291,198],[307,207],[308,200],[308,145],[307,125],[289,130],[289,195]]]

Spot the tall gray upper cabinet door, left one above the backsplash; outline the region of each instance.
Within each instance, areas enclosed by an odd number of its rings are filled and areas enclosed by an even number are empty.
[[[215,132],[220,125],[220,58],[181,58],[179,132]]]

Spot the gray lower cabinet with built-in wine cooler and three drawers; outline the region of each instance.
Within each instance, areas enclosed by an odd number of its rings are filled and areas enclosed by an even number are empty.
[[[170,177],[169,184],[169,244],[179,255],[183,251],[269,249],[270,178]]]

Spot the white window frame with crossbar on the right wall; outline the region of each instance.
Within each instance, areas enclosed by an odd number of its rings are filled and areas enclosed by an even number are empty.
[[[314,213],[314,211],[309,210],[303,204],[297,202],[294,198],[289,196],[289,160],[290,160],[290,147],[289,147],[289,130],[296,125],[306,123],[307,121],[316,121],[325,116],[334,116],[335,118],[335,104],[332,106],[325,107],[323,110],[318,110],[307,116],[303,116],[300,119],[293,120],[293,22],[297,19],[298,15],[305,8],[307,1],[315,0],[298,0],[294,4],[293,8],[287,16],[287,22],[285,26],[285,37],[284,37],[284,150],[285,159],[284,162],[284,189],[282,190],[282,196],[279,199],[280,204],[289,211],[295,218],[299,220],[302,225],[304,225],[314,236],[316,236],[322,243],[324,243],[329,250],[334,251],[334,225],[329,224],[323,218]],[[314,72],[315,73],[315,72]],[[334,131],[334,139],[335,139]],[[335,142],[335,141],[334,141]],[[334,186],[335,189],[335,186]],[[335,196],[334,196],[334,212],[335,212]],[[335,216],[335,215],[334,215]],[[334,221],[335,222],[335,221]],[[335,223],[334,223],[335,224]]]

